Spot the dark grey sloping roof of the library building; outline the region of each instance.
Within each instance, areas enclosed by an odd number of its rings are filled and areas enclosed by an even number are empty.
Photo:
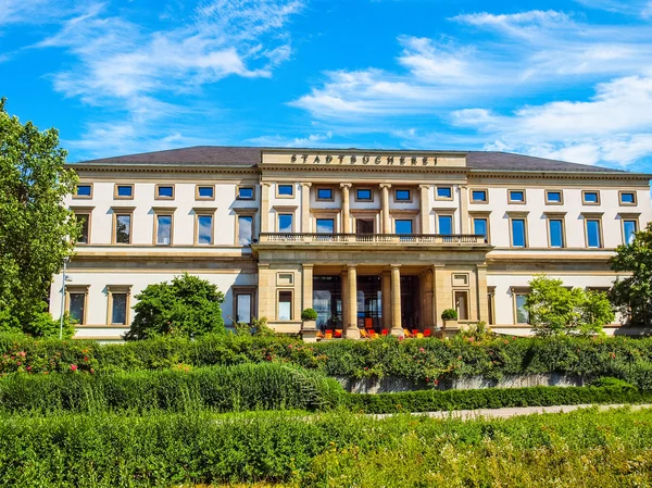
[[[166,151],[143,152],[139,154],[120,155],[98,160],[83,161],[83,165],[121,165],[121,164],[155,164],[155,165],[224,165],[224,166],[255,166],[261,162],[265,150],[290,148],[255,148],[228,146],[197,146],[193,148],[170,149]],[[341,151],[341,149],[304,149],[297,151]],[[365,151],[364,149],[351,149]],[[378,151],[369,149],[368,151]],[[437,151],[402,151],[383,152],[437,152]],[[587,172],[587,173],[625,173],[620,170],[591,166],[588,164],[567,163],[531,155],[515,154],[499,151],[441,151],[444,153],[466,154],[467,166],[479,171],[541,171],[541,172]]]

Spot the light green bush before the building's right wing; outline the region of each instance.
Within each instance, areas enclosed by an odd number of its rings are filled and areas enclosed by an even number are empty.
[[[614,320],[605,293],[569,290],[561,279],[537,275],[529,281],[530,292],[525,306],[535,335],[548,337],[562,334],[590,336],[602,333],[602,326]]]

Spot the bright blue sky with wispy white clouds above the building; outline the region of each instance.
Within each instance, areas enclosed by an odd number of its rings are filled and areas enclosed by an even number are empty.
[[[0,0],[0,96],[70,161],[485,149],[652,172],[652,0]]]

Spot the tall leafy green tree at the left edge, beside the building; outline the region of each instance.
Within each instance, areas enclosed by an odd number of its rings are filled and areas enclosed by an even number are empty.
[[[62,205],[77,176],[64,167],[57,129],[22,124],[4,104],[0,100],[0,329],[41,335],[51,328],[32,323],[42,325],[52,276],[79,234]]]

